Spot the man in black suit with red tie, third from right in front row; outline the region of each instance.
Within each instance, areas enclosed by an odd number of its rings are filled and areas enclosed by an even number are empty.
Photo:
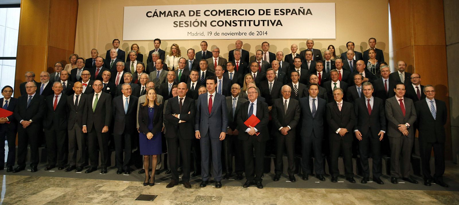
[[[386,133],[386,115],[384,103],[380,98],[373,97],[373,85],[370,82],[363,84],[364,97],[354,102],[354,111],[357,122],[354,126],[354,134],[358,141],[360,151],[360,164],[362,166],[362,180],[360,183],[369,181],[368,156],[371,150],[373,159],[373,181],[384,184],[381,180],[381,140]]]

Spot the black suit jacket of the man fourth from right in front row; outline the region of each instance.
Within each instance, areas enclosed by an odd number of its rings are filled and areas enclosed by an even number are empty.
[[[354,105],[350,102],[342,101],[341,111],[338,109],[336,101],[327,104],[326,119],[329,126],[330,141],[353,141],[353,128],[355,126]],[[336,133],[338,128],[346,128],[347,133],[343,137]]]

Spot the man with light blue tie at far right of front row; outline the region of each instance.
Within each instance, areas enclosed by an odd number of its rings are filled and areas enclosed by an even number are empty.
[[[443,182],[445,173],[445,124],[448,111],[444,101],[435,99],[435,88],[431,85],[424,87],[425,100],[414,103],[417,121],[419,123],[419,147],[422,160],[424,185],[431,186],[432,181],[442,187],[448,187]],[[435,154],[435,174],[431,176],[430,158],[432,147]]]

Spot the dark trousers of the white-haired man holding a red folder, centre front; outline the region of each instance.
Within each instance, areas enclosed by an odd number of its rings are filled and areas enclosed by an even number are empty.
[[[249,139],[242,141],[244,151],[244,163],[246,167],[246,179],[249,181],[261,182],[263,175],[264,152],[266,141],[259,142],[257,136],[249,136]],[[255,163],[253,154],[255,153]],[[253,166],[255,164],[255,167]]]

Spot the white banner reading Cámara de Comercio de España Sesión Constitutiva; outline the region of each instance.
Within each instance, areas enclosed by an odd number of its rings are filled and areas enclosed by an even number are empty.
[[[125,6],[123,40],[334,39],[335,3]]]

